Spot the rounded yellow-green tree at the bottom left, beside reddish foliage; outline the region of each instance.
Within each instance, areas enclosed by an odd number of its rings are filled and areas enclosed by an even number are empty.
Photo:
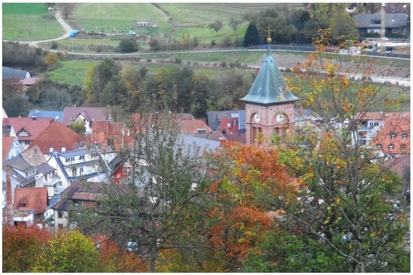
[[[32,272],[96,272],[100,260],[94,242],[78,232],[58,231],[41,248]]]

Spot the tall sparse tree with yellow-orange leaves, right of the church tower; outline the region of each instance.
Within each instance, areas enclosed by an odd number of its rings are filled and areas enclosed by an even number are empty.
[[[386,101],[391,107],[392,100],[381,91],[383,85],[370,82],[374,64],[363,57],[352,62],[350,56],[326,58],[328,41],[328,32],[320,32],[319,52],[305,63],[313,74],[290,83],[302,107],[311,108],[324,123],[297,129],[278,145],[279,162],[303,185],[296,199],[277,197],[274,208],[286,211],[284,224],[290,230],[317,238],[343,256],[347,265],[343,272],[406,272],[410,269],[406,261],[409,225],[403,210],[403,183],[383,166],[374,147],[361,144],[354,133],[359,118],[375,104]],[[354,80],[354,74],[364,77]],[[341,125],[346,119],[351,122],[348,129],[335,127],[330,118]]]

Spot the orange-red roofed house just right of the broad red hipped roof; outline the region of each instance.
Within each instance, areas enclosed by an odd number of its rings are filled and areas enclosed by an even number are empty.
[[[123,126],[123,123],[95,120],[92,124],[92,142],[110,146],[119,151],[132,140],[129,129]]]

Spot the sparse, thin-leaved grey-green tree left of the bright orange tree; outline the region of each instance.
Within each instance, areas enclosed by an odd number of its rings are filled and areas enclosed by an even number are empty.
[[[105,184],[96,210],[74,206],[70,217],[83,232],[105,234],[125,249],[129,241],[137,243],[154,272],[162,250],[186,248],[190,255],[205,245],[212,162],[200,157],[199,146],[182,140],[173,114],[140,113],[126,123],[134,137],[127,151],[129,177],[120,185]]]

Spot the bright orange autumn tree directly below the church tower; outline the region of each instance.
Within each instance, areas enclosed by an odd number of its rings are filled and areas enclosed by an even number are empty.
[[[299,181],[277,163],[275,149],[223,142],[215,158],[221,179],[211,186],[216,199],[209,212],[210,243],[224,252],[229,268],[236,271],[260,236],[277,228],[273,218],[282,209],[269,202],[278,196],[295,197]]]

